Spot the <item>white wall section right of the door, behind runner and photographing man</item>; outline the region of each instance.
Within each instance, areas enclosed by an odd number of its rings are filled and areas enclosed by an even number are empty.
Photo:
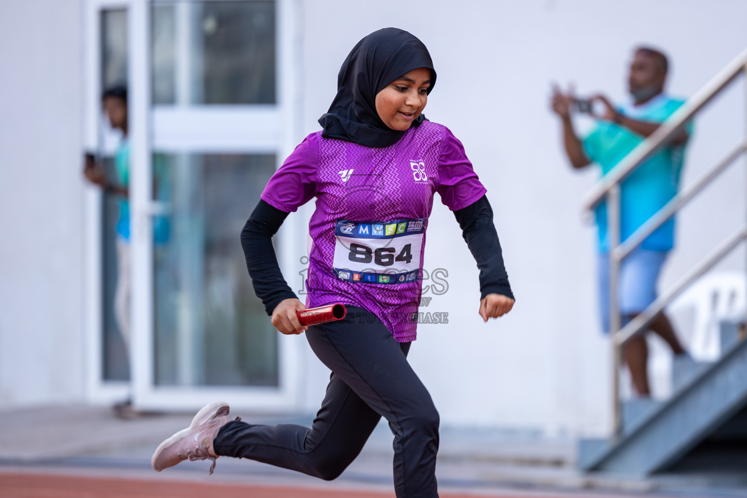
[[[651,43],[671,57],[671,93],[690,96],[747,46],[742,20],[747,4],[441,0],[382,5],[304,2],[304,131],[319,128],[316,119],[334,96],[339,66],[365,34],[397,26],[428,46],[438,83],[425,113],[462,140],[486,184],[517,297],[511,314],[483,325],[474,262],[453,216],[436,201],[425,267],[446,268],[450,290],[428,309],[448,311],[450,323],[421,326],[410,358],[441,420],[550,434],[604,432],[609,346],[598,332],[595,228],[580,217],[580,198],[598,172],[572,172],[565,161],[559,123],[548,110],[550,84],[575,81],[581,94],[603,91],[621,101],[632,47]],[[743,96],[743,87],[732,90],[698,120],[685,181],[744,136]],[[741,164],[735,165],[684,212],[663,284],[672,283],[744,220],[746,184]],[[743,268],[743,254],[722,267]],[[317,369],[309,408],[317,405],[325,382],[324,370]]]

